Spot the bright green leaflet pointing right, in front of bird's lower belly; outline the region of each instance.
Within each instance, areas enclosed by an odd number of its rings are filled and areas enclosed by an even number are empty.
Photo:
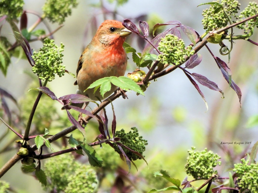
[[[139,93],[144,96],[144,93],[141,90],[141,88],[139,87],[139,85],[137,85],[137,83],[135,83],[132,79],[130,79],[128,77],[124,77],[124,76],[120,76],[118,78],[112,77],[111,83],[120,87],[121,89],[133,90],[136,93]]]

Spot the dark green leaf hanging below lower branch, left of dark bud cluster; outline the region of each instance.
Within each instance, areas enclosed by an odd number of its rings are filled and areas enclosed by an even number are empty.
[[[81,141],[79,141],[78,143],[82,147],[83,151],[87,154],[91,166],[101,167],[103,160],[99,156],[99,154],[96,153],[95,149],[88,144],[84,144]]]

